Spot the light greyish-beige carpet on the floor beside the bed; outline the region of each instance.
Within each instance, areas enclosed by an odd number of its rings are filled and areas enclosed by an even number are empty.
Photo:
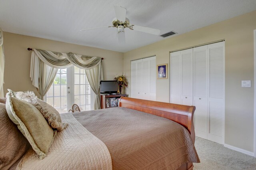
[[[194,170],[256,170],[256,158],[196,137],[196,151],[201,163]]]

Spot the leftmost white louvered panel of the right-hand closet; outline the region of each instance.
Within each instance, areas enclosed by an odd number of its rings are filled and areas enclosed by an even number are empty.
[[[180,51],[170,53],[170,103],[180,104]]]

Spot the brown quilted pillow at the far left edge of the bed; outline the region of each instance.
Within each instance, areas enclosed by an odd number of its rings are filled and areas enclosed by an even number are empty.
[[[5,104],[0,103],[0,169],[9,169],[29,146],[28,140],[8,117]]]

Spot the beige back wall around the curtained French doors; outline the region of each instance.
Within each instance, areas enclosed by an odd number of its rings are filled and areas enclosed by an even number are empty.
[[[31,51],[27,50],[28,47],[104,57],[105,80],[113,80],[116,74],[123,72],[123,53],[4,32],[4,93],[9,88],[14,91],[30,90],[38,95],[29,77]]]

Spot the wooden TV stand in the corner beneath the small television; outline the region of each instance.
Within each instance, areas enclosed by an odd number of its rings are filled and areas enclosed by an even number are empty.
[[[100,109],[106,109],[110,107],[118,107],[118,101],[115,101],[115,105],[111,106],[111,98],[119,99],[120,97],[126,97],[126,94],[116,94],[116,95],[100,95]],[[113,104],[113,103],[112,103]]]

